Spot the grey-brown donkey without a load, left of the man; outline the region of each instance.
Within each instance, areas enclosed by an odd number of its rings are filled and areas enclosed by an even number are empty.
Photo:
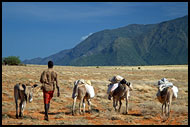
[[[14,86],[14,99],[15,99],[15,103],[16,103],[16,118],[18,119],[18,117],[23,117],[23,112],[24,109],[26,107],[26,103],[27,101],[29,101],[30,103],[33,100],[33,88],[35,88],[36,86],[38,86],[37,84],[34,84],[33,86],[28,86],[28,84],[16,84]],[[19,116],[18,116],[18,100],[20,100],[20,112],[19,112]]]

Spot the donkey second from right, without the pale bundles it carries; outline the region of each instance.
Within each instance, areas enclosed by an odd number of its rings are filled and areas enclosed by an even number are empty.
[[[122,102],[124,98],[126,99],[126,114],[128,114],[128,106],[129,106],[129,91],[132,90],[132,84],[127,82],[125,79],[121,80],[118,84],[118,87],[113,92],[113,107],[115,111],[120,112]],[[119,108],[116,109],[119,101]]]

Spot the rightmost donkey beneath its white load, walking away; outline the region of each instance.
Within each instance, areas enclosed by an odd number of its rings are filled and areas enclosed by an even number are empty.
[[[162,116],[167,115],[168,118],[169,118],[169,116],[170,116],[170,108],[171,108],[171,103],[172,103],[173,96],[174,96],[174,93],[173,93],[172,87],[164,88],[160,92],[160,96],[157,96],[159,102],[162,104]],[[164,106],[165,106],[165,110],[164,110]],[[167,113],[166,113],[166,107],[168,107],[168,112]]]

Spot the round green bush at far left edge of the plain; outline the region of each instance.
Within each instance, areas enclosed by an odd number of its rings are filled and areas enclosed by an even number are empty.
[[[4,65],[19,65],[21,63],[18,56],[8,56],[3,58],[2,64]]]

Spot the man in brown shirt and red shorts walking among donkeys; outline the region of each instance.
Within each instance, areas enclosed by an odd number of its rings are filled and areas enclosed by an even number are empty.
[[[41,74],[40,82],[42,83],[43,97],[44,97],[44,109],[45,117],[44,120],[48,121],[48,110],[50,107],[50,100],[53,97],[55,90],[55,84],[57,88],[57,96],[60,96],[57,73],[53,70],[53,62],[48,62],[48,69],[44,70]]]

